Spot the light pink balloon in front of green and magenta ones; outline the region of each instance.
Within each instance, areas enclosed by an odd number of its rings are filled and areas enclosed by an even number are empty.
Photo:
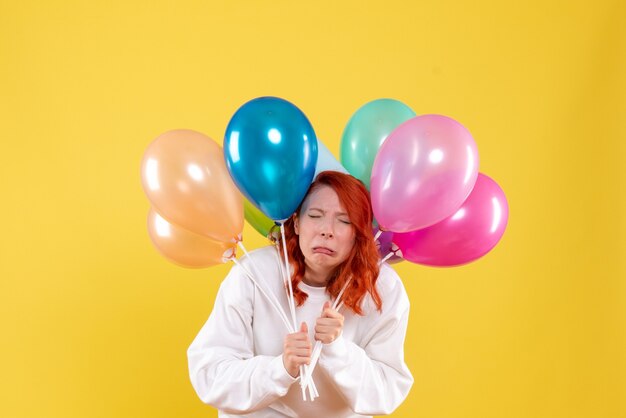
[[[372,169],[371,197],[379,225],[408,232],[453,214],[478,176],[472,135],[446,116],[417,116],[394,130]]]

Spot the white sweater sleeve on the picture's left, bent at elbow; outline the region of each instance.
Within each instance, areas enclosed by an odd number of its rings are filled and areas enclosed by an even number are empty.
[[[238,266],[218,291],[215,306],[187,350],[191,383],[200,399],[227,413],[265,408],[296,381],[282,355],[255,355],[252,321],[255,289]]]

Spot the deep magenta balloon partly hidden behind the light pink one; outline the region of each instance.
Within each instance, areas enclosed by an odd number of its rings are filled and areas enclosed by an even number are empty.
[[[504,192],[480,173],[463,205],[443,221],[412,232],[394,233],[402,257],[427,266],[458,266],[487,254],[504,234],[509,206]]]

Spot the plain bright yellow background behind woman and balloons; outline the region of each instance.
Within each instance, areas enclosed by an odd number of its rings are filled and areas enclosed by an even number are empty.
[[[626,417],[625,21],[623,0],[2,0],[0,416],[216,416],[185,350],[230,266],[156,252],[139,163],[275,95],[336,154],[372,99],[451,116],[509,200],[478,262],[398,265],[415,385],[393,416]]]

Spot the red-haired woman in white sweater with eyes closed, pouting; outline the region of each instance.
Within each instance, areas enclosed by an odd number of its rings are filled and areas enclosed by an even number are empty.
[[[361,417],[389,414],[402,403],[413,384],[403,349],[409,300],[394,270],[379,267],[371,225],[360,181],[333,171],[316,178],[285,223],[295,333],[233,267],[187,353],[194,389],[219,416]],[[266,247],[241,265],[289,315],[280,254]],[[337,311],[331,303],[346,283]],[[305,401],[294,383],[316,341],[323,343],[313,372],[319,397]]]

